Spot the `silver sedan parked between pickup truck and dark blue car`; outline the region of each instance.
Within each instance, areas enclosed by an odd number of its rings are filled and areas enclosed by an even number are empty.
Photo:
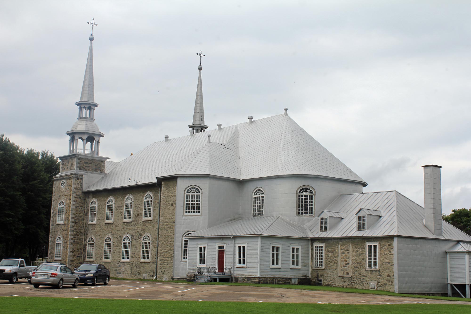
[[[56,286],[61,289],[63,285],[76,288],[79,285],[79,276],[64,264],[48,263],[40,265],[32,273],[31,283],[34,288]]]

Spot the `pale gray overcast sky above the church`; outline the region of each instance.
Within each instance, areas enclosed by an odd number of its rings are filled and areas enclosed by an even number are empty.
[[[362,177],[471,207],[470,1],[2,1],[0,133],[67,153],[92,17],[100,155],[188,134],[203,50],[210,129],[288,114]],[[276,130],[273,130],[276,132]]]

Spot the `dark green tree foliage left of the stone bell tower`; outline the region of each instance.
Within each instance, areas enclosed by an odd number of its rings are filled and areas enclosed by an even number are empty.
[[[59,168],[54,154],[25,151],[0,134],[0,258],[33,260],[48,247],[52,180]]]

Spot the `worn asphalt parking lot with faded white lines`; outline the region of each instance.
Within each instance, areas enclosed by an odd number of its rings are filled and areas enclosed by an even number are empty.
[[[287,303],[334,303],[334,304],[469,304],[446,300],[411,297],[378,296],[332,291],[309,291],[250,286],[198,285],[154,281],[110,280],[108,285],[80,284],[77,288],[62,289],[41,286],[36,289],[25,280],[10,284],[0,282],[2,297],[72,297],[117,298],[138,300],[189,300],[189,301],[244,301]]]

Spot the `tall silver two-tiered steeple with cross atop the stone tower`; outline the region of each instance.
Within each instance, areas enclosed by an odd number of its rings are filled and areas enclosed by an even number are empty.
[[[87,154],[98,156],[100,149],[100,138],[105,136],[98,129],[95,123],[95,108],[98,104],[95,102],[95,90],[93,84],[93,26],[96,26],[94,19],[88,22],[92,26],[92,33],[89,36],[90,46],[87,57],[87,65],[85,66],[85,75],[83,76],[82,91],[80,101],[75,105],[79,107],[79,115],[77,122],[72,125],[70,131],[65,134],[70,136],[69,154]],[[81,140],[81,148],[78,147]],[[87,148],[87,144],[89,148]]]

